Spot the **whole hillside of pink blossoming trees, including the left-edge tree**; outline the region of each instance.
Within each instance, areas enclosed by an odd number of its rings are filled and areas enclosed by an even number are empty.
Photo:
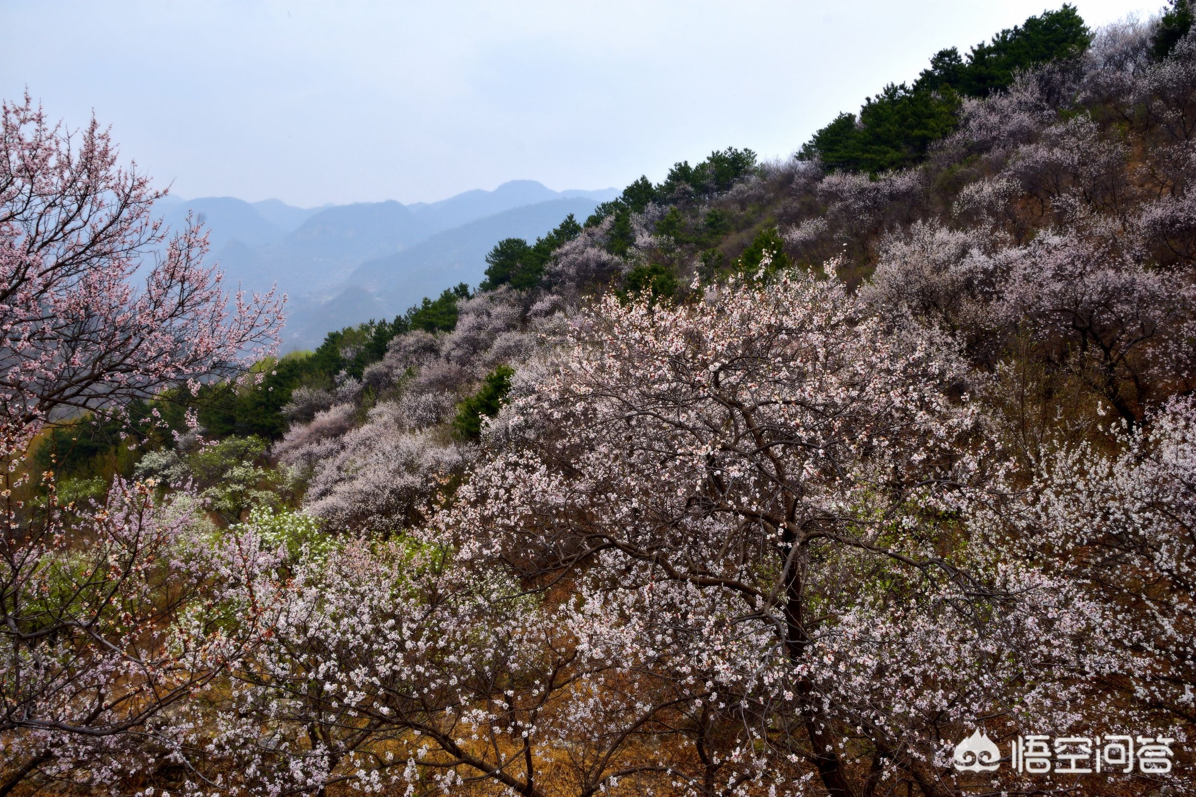
[[[0,796],[1190,793],[1191,22],[1045,11],[281,357],[10,98]]]

